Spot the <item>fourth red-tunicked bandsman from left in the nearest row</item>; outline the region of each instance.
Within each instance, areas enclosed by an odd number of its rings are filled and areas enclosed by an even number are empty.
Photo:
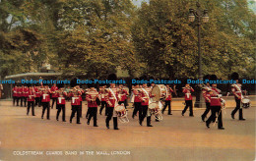
[[[82,95],[82,93],[78,90],[76,90],[75,88],[73,89],[73,92],[70,94],[71,96],[71,106],[72,106],[72,113],[70,116],[70,123],[72,123],[72,119],[75,117],[75,114],[77,114],[77,124],[81,124],[80,123],[80,107],[81,107],[81,99],[80,99],[80,95]]]

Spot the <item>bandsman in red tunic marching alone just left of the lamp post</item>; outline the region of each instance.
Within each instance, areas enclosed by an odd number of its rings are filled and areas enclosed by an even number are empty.
[[[183,93],[185,94],[185,103],[186,106],[184,107],[182,111],[182,116],[184,116],[185,112],[187,111],[187,108],[189,107],[189,116],[194,117],[193,115],[193,102],[192,102],[192,92],[195,91],[193,87],[190,86],[189,83],[186,83],[185,87],[183,87]]]

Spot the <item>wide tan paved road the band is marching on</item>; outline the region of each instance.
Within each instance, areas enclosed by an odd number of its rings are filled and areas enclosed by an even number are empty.
[[[232,120],[231,109],[227,108],[224,131],[213,125],[210,129],[206,128],[200,118],[203,109],[195,109],[193,118],[188,117],[188,113],[182,117],[181,100],[176,101],[179,106],[173,106],[173,115],[164,114],[163,121],[159,123],[153,120],[153,128],[146,127],[146,123],[143,127],[139,126],[138,117],[132,119],[132,109],[129,109],[130,123],[119,123],[120,130],[113,131],[106,130],[105,116],[98,115],[97,128],[86,125],[86,109],[83,109],[82,125],[77,125],[57,122],[55,109],[51,110],[51,120],[41,120],[41,108],[36,107],[36,116],[32,117],[25,115],[25,107],[13,107],[11,101],[1,100],[0,103],[0,160],[255,159],[255,104],[244,110],[244,122],[237,120],[237,114]],[[70,105],[66,111],[66,120],[69,120]],[[43,155],[21,155],[22,151],[42,151]],[[46,155],[46,151],[60,151],[62,155]],[[67,155],[66,151],[77,151],[78,154],[73,152],[73,155]],[[85,153],[80,155],[79,151]],[[93,151],[94,155],[86,151]],[[101,151],[102,155],[96,154],[97,151]],[[111,155],[111,151],[127,151],[127,155],[115,155],[114,152]]]

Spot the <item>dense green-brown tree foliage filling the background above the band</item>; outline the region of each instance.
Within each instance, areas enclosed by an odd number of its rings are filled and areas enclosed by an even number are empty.
[[[200,1],[203,74],[255,78],[255,14],[246,0]],[[250,3],[255,3],[250,1]],[[191,0],[1,0],[0,75],[38,72],[50,63],[65,75],[105,78],[198,78],[197,26]]]

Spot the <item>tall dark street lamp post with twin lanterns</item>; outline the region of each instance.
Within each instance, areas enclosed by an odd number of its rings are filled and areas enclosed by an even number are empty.
[[[202,55],[201,55],[201,25],[202,23],[208,23],[209,22],[209,16],[208,16],[208,10],[202,11],[199,2],[196,4],[197,9],[189,9],[189,15],[188,15],[188,21],[190,23],[193,23],[196,21],[197,25],[197,36],[198,36],[198,56],[199,56],[199,80],[203,80],[202,75]],[[199,93],[197,93],[196,96],[196,102],[195,107],[203,107],[205,106],[204,98],[201,89],[199,90]]]

